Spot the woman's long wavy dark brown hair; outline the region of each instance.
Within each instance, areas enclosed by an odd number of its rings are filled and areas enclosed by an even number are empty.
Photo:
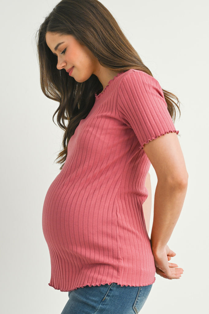
[[[46,97],[58,101],[59,106],[52,120],[54,122],[57,113],[57,123],[65,131],[62,140],[63,149],[56,158],[57,163],[62,164],[61,170],[67,157],[69,139],[81,119],[84,119],[94,106],[94,94],[100,93],[103,86],[94,74],[85,82],[79,83],[69,76],[65,69],[58,70],[57,57],[46,44],[46,32],[73,35],[80,44],[92,51],[105,68],[117,70],[118,73],[138,69],[153,75],[102,3],[97,0],[62,0],[54,7],[37,30],[36,44],[41,89]],[[169,114],[175,121],[175,106],[180,112],[179,99],[165,89],[163,94]],[[65,120],[67,120],[66,125]]]

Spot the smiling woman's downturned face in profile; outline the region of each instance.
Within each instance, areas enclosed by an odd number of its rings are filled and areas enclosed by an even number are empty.
[[[61,43],[61,44],[60,44]],[[71,76],[77,82],[84,82],[98,72],[98,59],[72,35],[46,33],[46,44],[57,56],[57,69],[66,71],[73,67]]]

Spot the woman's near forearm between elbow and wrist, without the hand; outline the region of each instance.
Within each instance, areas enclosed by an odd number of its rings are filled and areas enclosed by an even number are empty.
[[[166,180],[158,180],[154,197],[154,216],[151,232],[153,252],[163,250],[168,243],[174,227],[179,219],[187,184],[171,184]]]

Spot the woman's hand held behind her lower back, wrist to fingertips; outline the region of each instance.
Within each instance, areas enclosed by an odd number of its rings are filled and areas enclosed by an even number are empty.
[[[184,270],[179,268],[177,264],[168,262],[175,255],[176,253],[170,250],[168,245],[162,251],[153,252],[156,273],[158,275],[166,279],[180,279]]]

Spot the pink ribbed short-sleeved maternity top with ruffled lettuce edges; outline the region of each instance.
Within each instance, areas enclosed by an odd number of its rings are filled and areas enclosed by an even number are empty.
[[[43,205],[50,286],[71,291],[112,282],[154,283],[142,210],[150,168],[143,145],[170,132],[179,133],[160,84],[147,73],[121,72],[95,94]]]

